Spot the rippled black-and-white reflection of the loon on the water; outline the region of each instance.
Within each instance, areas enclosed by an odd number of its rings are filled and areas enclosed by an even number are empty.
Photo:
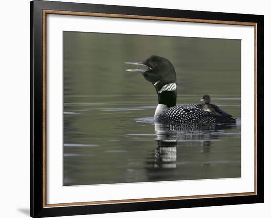
[[[220,140],[220,134],[216,134],[226,129],[235,128],[234,125],[215,125],[215,124],[158,124],[155,123],[155,133],[157,148],[154,149],[153,158],[148,157],[147,175],[150,180],[163,179],[162,171],[176,169],[181,163],[183,152],[192,143],[198,142],[201,145],[201,153],[210,153],[212,143]],[[177,152],[178,151],[178,152]],[[203,163],[208,166],[211,163]],[[180,164],[181,165],[181,164]],[[172,172],[171,172],[172,173]],[[165,178],[166,179],[166,178]]]

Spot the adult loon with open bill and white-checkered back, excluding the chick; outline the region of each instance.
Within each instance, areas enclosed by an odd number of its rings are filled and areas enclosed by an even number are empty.
[[[215,111],[207,112],[202,104],[176,106],[177,83],[176,72],[172,63],[160,56],[152,55],[139,62],[125,62],[144,67],[143,69],[127,69],[126,71],[141,73],[151,82],[158,95],[158,105],[154,114],[157,123],[235,123],[231,115],[211,104]]]

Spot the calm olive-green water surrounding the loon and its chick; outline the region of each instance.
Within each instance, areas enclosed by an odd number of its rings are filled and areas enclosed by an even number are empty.
[[[64,185],[241,175],[240,41],[63,33]],[[125,61],[156,54],[177,72],[177,104],[203,94],[236,125],[161,126],[157,96]]]

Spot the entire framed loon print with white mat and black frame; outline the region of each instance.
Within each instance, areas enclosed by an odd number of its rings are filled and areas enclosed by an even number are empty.
[[[264,202],[264,16],[30,6],[32,217]]]

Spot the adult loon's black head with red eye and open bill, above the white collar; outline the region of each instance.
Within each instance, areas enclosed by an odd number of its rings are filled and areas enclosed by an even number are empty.
[[[148,59],[138,62],[125,62],[145,67],[145,69],[128,69],[130,72],[140,72],[151,82],[157,92],[166,84],[176,83],[176,72],[172,63],[160,56],[152,55]]]

